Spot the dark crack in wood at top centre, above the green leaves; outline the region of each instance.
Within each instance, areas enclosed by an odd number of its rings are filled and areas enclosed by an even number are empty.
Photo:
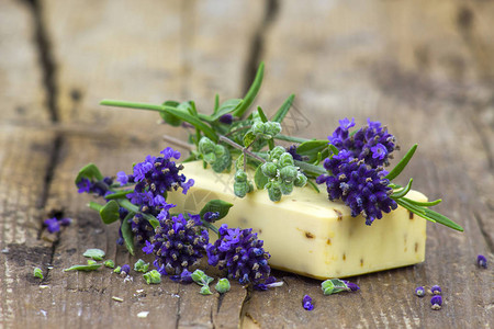
[[[245,71],[244,71],[244,92],[249,90],[250,83],[252,83],[256,77],[257,67],[259,65],[260,58],[265,50],[265,37],[268,29],[276,21],[279,12],[280,3],[278,0],[266,1],[265,16],[260,22],[259,26],[256,29],[254,38],[250,45],[249,56],[246,60]]]

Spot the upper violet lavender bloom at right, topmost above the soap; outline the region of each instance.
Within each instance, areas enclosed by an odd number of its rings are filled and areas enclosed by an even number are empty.
[[[368,120],[368,125],[350,134],[349,129],[355,126],[355,120],[348,118],[339,121],[339,127],[332,136],[329,143],[338,149],[346,149],[353,158],[366,161],[372,168],[389,166],[391,154],[397,148],[396,139],[388,133],[388,128],[382,127],[380,122]]]

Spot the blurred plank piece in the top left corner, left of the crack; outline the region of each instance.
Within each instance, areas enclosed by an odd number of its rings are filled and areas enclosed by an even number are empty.
[[[38,63],[35,22],[26,3],[0,3],[0,99],[2,125],[49,120],[43,103],[43,71]]]

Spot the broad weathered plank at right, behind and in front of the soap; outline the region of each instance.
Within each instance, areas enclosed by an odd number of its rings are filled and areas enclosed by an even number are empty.
[[[480,22],[492,10],[485,3],[483,8],[471,9]],[[463,225],[465,232],[429,225],[424,264],[356,277],[362,290],[348,296],[340,310],[335,304],[347,296],[324,297],[314,290],[314,281],[303,291],[313,294],[316,308],[304,313],[304,293],[297,288],[305,280],[285,274],[285,282],[294,281],[294,295],[254,293],[245,307],[249,324],[271,327],[281,319],[287,327],[325,327],[329,314],[338,315],[330,317],[338,327],[465,327],[471,319],[473,326],[489,324],[492,293],[485,284],[491,276],[474,263],[476,253],[492,252],[492,224],[486,218],[493,213],[485,191],[494,185],[485,140],[493,128],[489,121],[470,116],[490,117],[492,102],[482,101],[492,98],[492,76],[479,70],[479,57],[458,30],[461,10],[446,1],[282,3],[279,21],[266,38],[262,103],[276,109],[295,92],[295,109],[308,118],[308,127],[296,135],[325,138],[338,118],[356,117],[363,124],[371,117],[389,125],[404,148],[418,141],[419,151],[404,175],[414,177],[415,188],[430,197],[444,196],[439,211]],[[489,53],[491,32],[480,30],[471,36]],[[479,103],[483,106],[474,110]],[[475,126],[481,133],[472,133]],[[428,298],[413,295],[416,286],[433,284],[445,292],[446,306],[439,314],[430,310]],[[268,304],[269,313],[262,307]]]

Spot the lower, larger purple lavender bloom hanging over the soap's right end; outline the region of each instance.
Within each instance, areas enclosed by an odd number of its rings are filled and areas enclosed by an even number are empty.
[[[326,183],[330,201],[341,198],[351,209],[351,216],[362,215],[366,224],[371,225],[382,218],[382,212],[389,213],[397,207],[390,197],[393,190],[388,186],[384,171],[373,169],[352,157],[348,150],[327,158],[324,168],[329,174],[316,179],[318,184]]]

